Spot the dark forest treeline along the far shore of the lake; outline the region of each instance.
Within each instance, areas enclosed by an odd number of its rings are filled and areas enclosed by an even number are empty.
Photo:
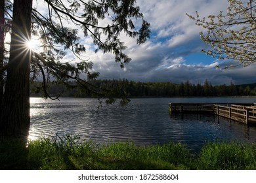
[[[90,81],[95,86],[113,88],[121,86],[129,97],[223,97],[223,96],[255,96],[256,83],[244,85],[218,85],[213,86],[211,82],[205,80],[203,84],[192,84],[189,81],[181,84],[171,82],[134,82],[129,80],[93,80]],[[72,82],[70,82],[72,84]],[[74,83],[73,83],[74,84]],[[31,96],[39,97],[41,93],[35,94],[33,91],[39,82],[31,84]],[[51,85],[48,89],[51,95],[62,93],[62,97],[92,97],[89,94],[81,93],[79,89],[66,89],[63,85]]]

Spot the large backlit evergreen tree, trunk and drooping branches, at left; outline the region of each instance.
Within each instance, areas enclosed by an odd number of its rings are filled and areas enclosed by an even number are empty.
[[[1,1],[0,136],[28,134],[30,80],[42,78],[38,90],[44,97],[51,97],[47,87],[53,82],[80,87],[101,97],[116,95],[116,91],[90,84],[89,80],[99,73],[92,71],[93,62],[81,57],[87,51],[87,42],[80,39],[81,32],[93,39],[95,52],[114,54],[122,68],[131,58],[124,53],[126,46],[121,34],[137,39],[137,44],[150,37],[150,24],[144,20],[135,0],[39,0],[33,3],[32,6],[32,0]],[[28,47],[31,37],[41,42],[37,51]],[[70,52],[80,61],[63,62]],[[69,80],[75,80],[75,85],[70,85]]]

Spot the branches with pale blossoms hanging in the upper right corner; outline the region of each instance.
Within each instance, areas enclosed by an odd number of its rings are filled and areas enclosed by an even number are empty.
[[[228,4],[227,12],[221,11],[217,16],[200,18],[198,12],[196,17],[188,15],[206,29],[206,33],[200,32],[200,37],[212,49],[202,51],[218,59],[235,59],[244,66],[255,63],[256,1],[228,0]]]

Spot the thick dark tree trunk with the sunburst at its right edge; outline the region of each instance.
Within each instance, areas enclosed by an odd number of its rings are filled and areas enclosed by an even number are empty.
[[[32,0],[14,0],[10,58],[3,96],[0,136],[26,139],[30,129],[30,40]]]

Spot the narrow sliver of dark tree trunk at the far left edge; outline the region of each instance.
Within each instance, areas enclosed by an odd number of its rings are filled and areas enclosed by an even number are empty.
[[[3,102],[3,58],[5,52],[5,1],[0,3],[0,111],[2,109]],[[1,119],[1,112],[0,112]]]

